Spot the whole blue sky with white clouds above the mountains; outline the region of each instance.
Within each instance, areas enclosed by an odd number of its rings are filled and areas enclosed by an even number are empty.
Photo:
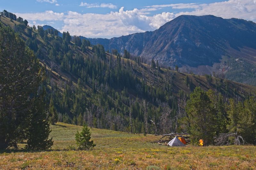
[[[215,15],[256,22],[256,0],[9,0],[7,10],[30,26],[50,25],[88,38],[154,31],[180,15]]]

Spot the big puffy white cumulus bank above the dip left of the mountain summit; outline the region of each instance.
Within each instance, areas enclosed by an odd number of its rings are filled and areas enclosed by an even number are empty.
[[[153,31],[174,18],[173,13],[163,12],[154,16],[142,15],[140,10],[124,11],[124,7],[109,14],[80,14],[68,11],[62,31],[85,37],[117,37],[136,32]]]

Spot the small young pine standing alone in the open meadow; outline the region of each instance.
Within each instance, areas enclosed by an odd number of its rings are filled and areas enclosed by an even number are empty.
[[[78,146],[78,149],[81,150],[88,150],[90,148],[93,148],[96,146],[96,144],[93,144],[93,140],[91,140],[92,133],[90,132],[90,129],[88,126],[83,126],[83,129],[81,132],[76,133],[76,144]]]

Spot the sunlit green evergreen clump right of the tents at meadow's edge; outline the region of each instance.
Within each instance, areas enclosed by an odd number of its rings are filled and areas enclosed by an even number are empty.
[[[214,144],[214,138],[223,133],[236,133],[244,138],[247,144],[256,144],[256,99],[249,97],[242,101],[229,99],[215,94],[212,90],[205,92],[196,87],[190,94],[186,106],[187,124],[192,143],[204,139],[204,144]],[[229,138],[234,143],[233,138]],[[233,141],[233,142],[232,142]]]

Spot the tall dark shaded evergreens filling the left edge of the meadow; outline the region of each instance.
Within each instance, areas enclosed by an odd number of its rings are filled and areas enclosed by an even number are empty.
[[[10,27],[0,23],[0,149],[52,146],[46,113],[44,69],[33,51]]]

